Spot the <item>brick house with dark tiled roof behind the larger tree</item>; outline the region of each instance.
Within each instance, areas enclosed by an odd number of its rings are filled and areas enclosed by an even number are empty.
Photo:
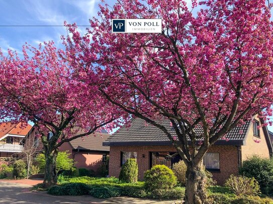
[[[169,121],[160,122],[175,135]],[[239,166],[248,156],[258,154],[269,158],[272,154],[267,128],[258,129],[261,123],[263,121],[255,117],[253,122],[248,121],[240,127],[235,127],[225,139],[218,140],[210,147],[203,162],[219,185],[223,185],[231,174],[238,174]],[[133,119],[129,128],[121,127],[103,145],[110,146],[110,176],[118,177],[121,166],[129,158],[137,159],[140,180],[143,179],[144,172],[153,165],[165,164],[171,167],[180,160],[163,131],[139,118]]]

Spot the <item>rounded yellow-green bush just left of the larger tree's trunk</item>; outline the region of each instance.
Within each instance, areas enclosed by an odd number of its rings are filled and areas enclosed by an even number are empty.
[[[169,189],[176,184],[176,177],[172,170],[165,165],[155,165],[144,173],[145,188],[147,190]]]

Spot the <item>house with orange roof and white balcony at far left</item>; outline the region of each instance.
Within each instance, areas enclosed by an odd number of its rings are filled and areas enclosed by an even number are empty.
[[[32,126],[22,123],[0,123],[0,158],[17,156],[24,149],[25,139],[32,134]]]

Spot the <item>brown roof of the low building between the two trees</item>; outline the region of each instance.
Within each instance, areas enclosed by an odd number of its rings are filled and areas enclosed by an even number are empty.
[[[73,149],[92,150],[92,151],[110,151],[110,147],[103,146],[103,141],[108,139],[110,134],[94,132],[88,136],[78,137],[69,143]]]

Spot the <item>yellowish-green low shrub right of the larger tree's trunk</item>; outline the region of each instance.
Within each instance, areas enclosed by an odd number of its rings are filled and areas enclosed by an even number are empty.
[[[225,186],[236,195],[258,195],[260,187],[255,178],[231,175],[226,180]]]

